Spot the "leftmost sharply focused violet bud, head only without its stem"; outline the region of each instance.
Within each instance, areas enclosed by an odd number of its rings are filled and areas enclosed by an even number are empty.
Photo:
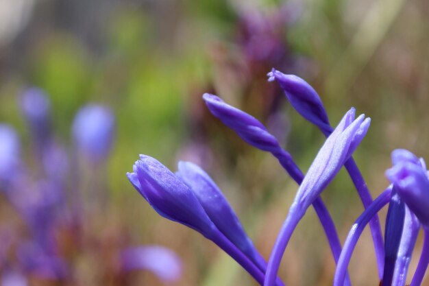
[[[215,225],[189,187],[158,160],[140,155],[127,173],[137,191],[163,217],[180,222],[210,238]]]

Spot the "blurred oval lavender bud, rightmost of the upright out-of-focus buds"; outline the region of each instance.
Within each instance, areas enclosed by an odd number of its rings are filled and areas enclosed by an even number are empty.
[[[79,150],[92,160],[105,158],[114,137],[112,110],[95,104],[81,108],[73,122],[73,137]]]

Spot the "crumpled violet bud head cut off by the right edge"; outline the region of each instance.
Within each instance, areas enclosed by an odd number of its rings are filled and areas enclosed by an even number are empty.
[[[417,157],[415,157],[417,158]],[[429,180],[420,161],[399,160],[386,176],[395,185],[397,193],[410,211],[415,213],[422,224],[429,224]]]

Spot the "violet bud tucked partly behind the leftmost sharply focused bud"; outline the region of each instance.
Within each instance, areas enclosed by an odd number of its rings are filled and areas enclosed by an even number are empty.
[[[260,264],[260,255],[252,241],[247,237],[243,226],[221,190],[206,172],[190,162],[180,162],[176,175],[195,193],[208,217],[228,237],[234,245],[243,251],[256,264]],[[265,264],[262,263],[262,264]]]

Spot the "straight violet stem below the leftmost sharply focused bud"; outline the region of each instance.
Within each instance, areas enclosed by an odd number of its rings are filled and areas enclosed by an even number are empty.
[[[263,285],[265,274],[262,272],[241,250],[238,250],[234,244],[223,235],[219,230],[215,231],[213,237],[210,237],[214,243],[223,251],[228,253],[232,259],[241,265],[260,285]],[[276,280],[277,286],[284,286],[284,283],[279,278]]]

